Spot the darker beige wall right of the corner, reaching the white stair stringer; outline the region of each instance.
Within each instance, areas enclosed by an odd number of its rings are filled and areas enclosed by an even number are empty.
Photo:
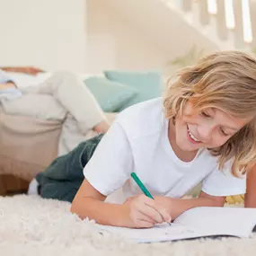
[[[196,44],[206,52],[216,45],[193,30],[158,0],[87,0],[88,71],[162,69]]]

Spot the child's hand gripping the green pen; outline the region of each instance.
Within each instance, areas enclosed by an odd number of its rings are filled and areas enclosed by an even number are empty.
[[[168,209],[158,200],[149,199],[145,195],[132,197],[124,203],[128,214],[128,227],[153,227],[163,222],[171,222],[172,217]]]

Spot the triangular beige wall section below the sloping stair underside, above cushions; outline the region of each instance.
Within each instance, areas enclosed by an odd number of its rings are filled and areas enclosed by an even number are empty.
[[[163,65],[164,52],[108,1],[87,0],[87,70],[147,70]]]

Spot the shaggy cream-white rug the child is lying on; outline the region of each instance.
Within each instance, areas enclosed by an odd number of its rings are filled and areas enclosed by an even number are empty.
[[[256,253],[256,237],[151,244],[128,243],[114,236],[105,238],[92,223],[72,215],[69,207],[68,203],[37,196],[0,197],[0,254],[250,256]]]

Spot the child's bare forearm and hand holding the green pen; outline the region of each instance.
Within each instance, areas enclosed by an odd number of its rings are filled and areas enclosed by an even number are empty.
[[[70,211],[82,219],[88,217],[98,224],[125,227],[152,227],[172,218],[162,204],[140,195],[123,204],[105,203],[106,196],[84,179],[75,195]]]

